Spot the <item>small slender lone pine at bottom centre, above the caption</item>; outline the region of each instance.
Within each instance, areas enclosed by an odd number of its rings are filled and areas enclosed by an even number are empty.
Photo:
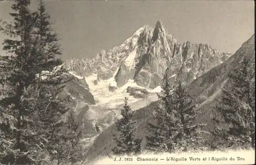
[[[116,122],[119,135],[114,134],[115,147],[112,150],[115,155],[138,154],[141,151],[141,140],[134,136],[137,128],[134,126],[136,121],[132,121],[134,112],[124,98],[124,106],[121,109],[122,118]]]

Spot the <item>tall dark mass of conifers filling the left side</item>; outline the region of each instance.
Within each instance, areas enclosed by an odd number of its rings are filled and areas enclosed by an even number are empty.
[[[9,36],[0,62],[0,162],[4,164],[65,164],[78,161],[80,127],[58,96],[69,79],[64,69],[57,35],[40,1],[38,11],[30,1],[14,1],[13,21],[0,30]],[[65,120],[66,119],[66,120]],[[64,145],[65,144],[65,145]]]

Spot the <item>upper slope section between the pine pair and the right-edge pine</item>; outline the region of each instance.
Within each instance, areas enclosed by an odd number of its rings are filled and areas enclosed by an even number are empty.
[[[188,86],[190,95],[195,98],[198,107],[202,110],[202,115],[198,118],[198,121],[207,122],[207,129],[212,129],[214,125],[214,123],[211,123],[210,117],[215,112],[216,98],[222,96],[222,88],[229,88],[228,74],[239,68],[245,57],[251,59],[251,66],[253,69],[255,68],[254,38],[254,35],[251,36],[227,61],[203,74]]]

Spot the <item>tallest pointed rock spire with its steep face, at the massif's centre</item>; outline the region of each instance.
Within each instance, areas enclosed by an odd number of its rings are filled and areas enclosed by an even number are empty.
[[[158,21],[146,53],[136,65],[134,79],[139,86],[153,89],[160,85],[171,61],[169,44],[172,42],[173,38],[167,35],[161,21]]]

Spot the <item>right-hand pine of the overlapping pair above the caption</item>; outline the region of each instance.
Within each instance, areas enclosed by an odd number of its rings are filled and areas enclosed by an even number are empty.
[[[193,99],[182,87],[181,83],[174,90],[173,102],[170,104],[173,107],[173,115],[176,119],[175,126],[178,132],[173,140],[176,143],[178,151],[199,151],[203,149],[206,139],[203,138],[207,131],[202,128],[206,126],[204,123],[197,123],[196,119],[200,115],[200,108],[193,105]]]

